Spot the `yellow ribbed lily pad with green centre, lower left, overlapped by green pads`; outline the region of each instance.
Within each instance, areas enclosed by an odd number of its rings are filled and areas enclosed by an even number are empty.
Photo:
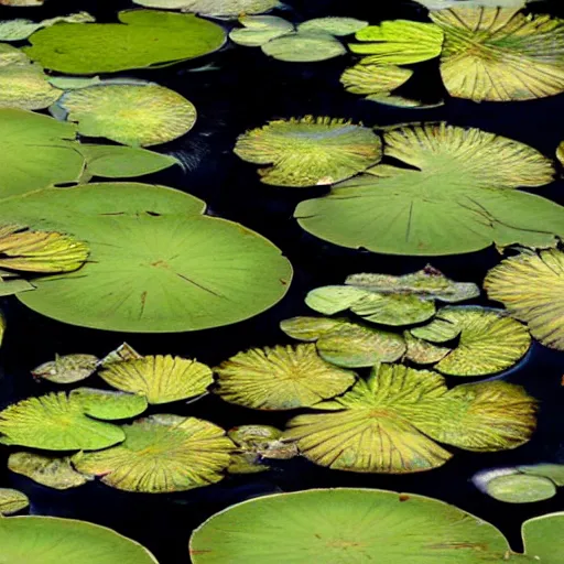
[[[78,471],[124,491],[164,494],[215,484],[234,449],[223,429],[195,417],[151,415],[121,429],[121,445],[79,453],[73,462]]]

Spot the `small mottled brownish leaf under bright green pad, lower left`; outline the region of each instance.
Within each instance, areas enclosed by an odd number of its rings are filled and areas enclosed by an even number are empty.
[[[13,453],[8,468],[47,488],[65,490],[88,484],[90,478],[77,473],[69,456],[50,456],[36,453]]]

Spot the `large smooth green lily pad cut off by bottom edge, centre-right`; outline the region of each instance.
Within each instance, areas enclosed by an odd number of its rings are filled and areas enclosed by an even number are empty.
[[[553,536],[562,540],[562,527],[557,530],[560,538]],[[293,564],[480,564],[503,562],[509,555],[495,527],[443,501],[352,488],[238,503],[196,529],[189,550],[194,564],[260,564],[265,558]]]

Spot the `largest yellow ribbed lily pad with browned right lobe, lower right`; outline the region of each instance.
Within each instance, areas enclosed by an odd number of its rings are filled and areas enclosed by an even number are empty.
[[[502,381],[448,390],[431,371],[400,365],[372,369],[368,381],[297,415],[284,437],[310,460],[333,469],[405,474],[445,464],[435,443],[476,452],[516,448],[531,437],[535,402]]]

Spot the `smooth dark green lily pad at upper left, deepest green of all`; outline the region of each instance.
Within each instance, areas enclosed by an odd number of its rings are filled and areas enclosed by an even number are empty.
[[[119,12],[121,23],[59,23],[34,33],[24,52],[43,67],[89,75],[172,64],[207,55],[226,39],[219,25],[192,14]]]

